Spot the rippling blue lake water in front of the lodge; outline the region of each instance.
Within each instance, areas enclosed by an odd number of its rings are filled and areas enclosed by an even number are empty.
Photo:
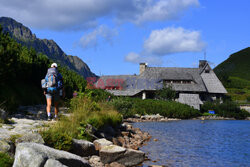
[[[152,136],[140,149],[150,159],[143,166],[250,166],[250,121],[183,120],[133,126]]]

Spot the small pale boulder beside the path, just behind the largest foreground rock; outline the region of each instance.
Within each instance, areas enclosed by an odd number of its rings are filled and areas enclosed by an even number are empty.
[[[44,140],[43,140],[42,136],[39,133],[27,133],[27,134],[24,134],[22,137],[16,139],[16,141],[15,141],[16,145],[18,143],[24,143],[24,142],[44,144]]]

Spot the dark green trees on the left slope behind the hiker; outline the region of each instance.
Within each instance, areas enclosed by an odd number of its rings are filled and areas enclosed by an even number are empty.
[[[16,42],[0,25],[0,108],[45,102],[41,79],[51,63],[46,55]],[[58,70],[64,78],[66,98],[71,98],[75,90],[84,91],[86,81],[82,76],[60,65]]]

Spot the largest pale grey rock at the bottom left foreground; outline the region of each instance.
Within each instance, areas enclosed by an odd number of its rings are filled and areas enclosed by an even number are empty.
[[[13,167],[44,167],[48,159],[59,161],[68,167],[90,167],[80,156],[37,143],[19,143],[16,147]]]

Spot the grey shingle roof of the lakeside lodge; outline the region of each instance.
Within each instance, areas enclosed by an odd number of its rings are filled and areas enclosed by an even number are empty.
[[[171,83],[172,88],[179,92],[209,92],[227,93],[222,83],[210,68],[210,73],[205,73],[204,68],[169,68],[147,67],[141,75],[106,75],[101,76],[96,82],[107,86],[122,86],[122,90],[107,90],[117,96],[134,96],[143,90],[157,90],[163,87],[163,80],[192,81],[191,83]],[[119,82],[117,82],[119,81]],[[100,86],[101,84],[99,84]]]

